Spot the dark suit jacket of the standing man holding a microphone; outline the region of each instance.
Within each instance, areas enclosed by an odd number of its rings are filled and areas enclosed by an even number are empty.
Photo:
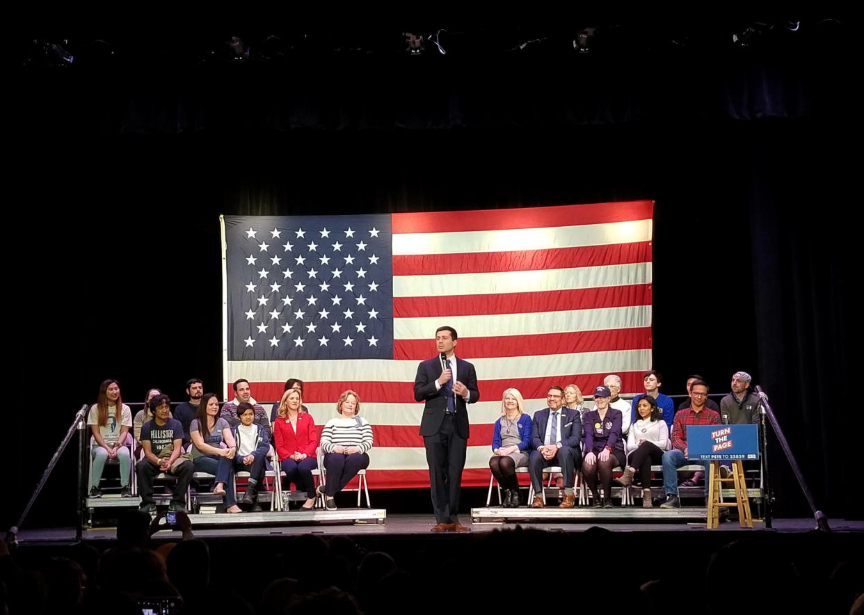
[[[444,421],[447,411],[447,388],[442,386],[435,390],[435,380],[441,376],[441,358],[429,358],[417,367],[417,377],[414,378],[414,399],[425,402],[423,416],[420,420],[420,435],[435,435]],[[468,388],[468,403],[476,403],[480,399],[477,389],[477,373],[474,366],[456,357],[456,380]],[[456,396],[456,433],[465,440],[468,439],[468,410],[465,399]]]

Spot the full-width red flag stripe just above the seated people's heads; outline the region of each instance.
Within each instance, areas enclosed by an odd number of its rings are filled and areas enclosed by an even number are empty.
[[[468,358],[470,360],[470,358]],[[618,375],[623,382],[625,393],[642,392],[645,386],[642,381],[642,371],[619,371]],[[482,374],[481,374],[482,376]],[[484,380],[480,379],[480,399],[483,401],[497,400],[505,389],[516,388],[525,399],[539,399],[546,396],[546,392],[553,384],[564,386],[575,383],[585,395],[590,395],[595,386],[603,384],[603,378],[607,374],[558,374],[533,378],[512,378],[510,380]],[[258,400],[279,399],[285,388],[284,383],[257,382],[251,383],[252,396]],[[303,387],[304,403],[332,402],[334,411],[336,400],[342,391],[351,389],[359,393],[363,403],[416,403],[414,401],[414,383],[389,383],[389,382],[314,382],[307,380]],[[270,405],[270,404],[268,404]],[[419,404],[418,404],[419,406]],[[266,409],[270,410],[269,407]],[[418,408],[419,409],[419,408]],[[531,410],[533,412],[533,409]],[[361,409],[362,413],[362,409]],[[420,424],[420,415],[417,415],[417,424]]]

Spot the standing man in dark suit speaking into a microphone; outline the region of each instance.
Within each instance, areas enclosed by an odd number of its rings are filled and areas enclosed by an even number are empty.
[[[469,531],[457,515],[468,441],[467,404],[480,399],[480,390],[474,366],[454,355],[457,339],[453,327],[438,327],[435,344],[440,354],[423,361],[414,379],[414,398],[426,403],[420,435],[429,463],[434,532]]]

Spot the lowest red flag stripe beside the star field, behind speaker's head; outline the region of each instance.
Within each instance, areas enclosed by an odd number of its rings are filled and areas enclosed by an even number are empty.
[[[429,358],[429,339],[397,339],[393,358]],[[495,338],[459,338],[460,357],[530,357],[570,352],[651,348],[651,327],[604,329],[576,333],[536,333]]]

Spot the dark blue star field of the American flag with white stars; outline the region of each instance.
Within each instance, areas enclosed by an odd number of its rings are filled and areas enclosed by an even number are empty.
[[[390,215],[226,216],[231,361],[393,358]]]

